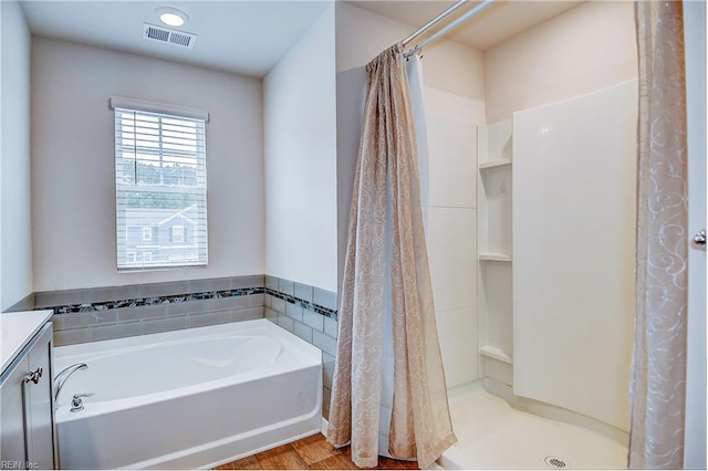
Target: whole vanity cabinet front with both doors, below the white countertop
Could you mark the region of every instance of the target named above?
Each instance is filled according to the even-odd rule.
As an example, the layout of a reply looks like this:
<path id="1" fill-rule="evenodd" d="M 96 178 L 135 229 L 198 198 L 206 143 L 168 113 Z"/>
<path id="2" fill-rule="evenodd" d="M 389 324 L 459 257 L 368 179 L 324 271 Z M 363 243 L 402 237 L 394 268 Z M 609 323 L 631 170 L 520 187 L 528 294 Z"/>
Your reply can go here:
<path id="1" fill-rule="evenodd" d="M 52 324 L 46 323 L 0 376 L 2 469 L 55 469 Z"/>

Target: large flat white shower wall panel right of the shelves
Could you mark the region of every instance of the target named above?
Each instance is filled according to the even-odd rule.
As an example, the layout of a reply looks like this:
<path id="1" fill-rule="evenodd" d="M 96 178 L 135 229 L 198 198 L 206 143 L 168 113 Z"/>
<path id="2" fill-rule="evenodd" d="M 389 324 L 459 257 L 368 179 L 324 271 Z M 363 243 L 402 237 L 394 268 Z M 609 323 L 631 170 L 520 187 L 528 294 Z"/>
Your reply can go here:
<path id="1" fill-rule="evenodd" d="M 628 429 L 637 83 L 514 113 L 514 394 Z"/>

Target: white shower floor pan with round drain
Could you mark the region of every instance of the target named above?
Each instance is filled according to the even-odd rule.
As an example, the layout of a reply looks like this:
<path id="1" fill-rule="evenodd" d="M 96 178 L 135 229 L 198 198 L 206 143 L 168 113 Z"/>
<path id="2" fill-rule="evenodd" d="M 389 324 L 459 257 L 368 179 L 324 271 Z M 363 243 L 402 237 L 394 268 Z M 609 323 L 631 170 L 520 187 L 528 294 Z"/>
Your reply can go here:
<path id="1" fill-rule="evenodd" d="M 626 447 L 512 409 L 481 384 L 454 388 L 449 399 L 458 442 L 439 460 L 446 469 L 626 469 Z"/>

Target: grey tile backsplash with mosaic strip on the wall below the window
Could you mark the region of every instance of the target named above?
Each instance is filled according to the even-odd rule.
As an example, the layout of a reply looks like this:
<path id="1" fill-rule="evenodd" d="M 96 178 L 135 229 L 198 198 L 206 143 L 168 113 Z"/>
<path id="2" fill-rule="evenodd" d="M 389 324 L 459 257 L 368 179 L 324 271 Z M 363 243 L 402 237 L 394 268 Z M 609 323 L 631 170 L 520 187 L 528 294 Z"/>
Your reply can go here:
<path id="1" fill-rule="evenodd" d="M 54 345 L 263 317 L 263 275 L 34 293 L 54 311 Z"/>

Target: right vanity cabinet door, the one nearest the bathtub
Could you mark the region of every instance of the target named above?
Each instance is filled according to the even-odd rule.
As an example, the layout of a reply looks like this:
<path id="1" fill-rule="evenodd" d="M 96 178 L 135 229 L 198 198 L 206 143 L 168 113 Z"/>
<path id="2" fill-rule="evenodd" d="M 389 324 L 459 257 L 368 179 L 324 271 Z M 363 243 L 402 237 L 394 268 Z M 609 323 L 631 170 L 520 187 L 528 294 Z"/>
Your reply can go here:
<path id="1" fill-rule="evenodd" d="M 24 384 L 27 395 L 25 412 L 28 427 L 28 458 L 39 469 L 54 469 L 54 421 L 52 409 L 52 370 L 51 370 L 51 338 L 52 329 L 43 332 L 42 337 L 30 350 L 29 368 L 35 371 L 42 368 L 42 376 L 38 384 Z"/>

